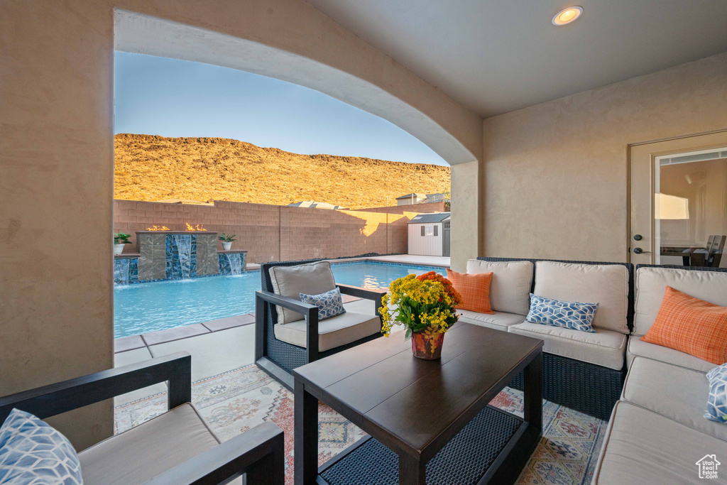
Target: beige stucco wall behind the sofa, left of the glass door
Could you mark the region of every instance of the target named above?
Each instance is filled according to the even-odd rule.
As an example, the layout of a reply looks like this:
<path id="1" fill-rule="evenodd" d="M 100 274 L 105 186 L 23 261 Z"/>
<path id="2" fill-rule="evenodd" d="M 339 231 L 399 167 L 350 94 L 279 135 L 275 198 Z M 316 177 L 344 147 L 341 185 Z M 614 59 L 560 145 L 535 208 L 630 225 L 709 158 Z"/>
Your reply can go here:
<path id="1" fill-rule="evenodd" d="M 486 119 L 486 254 L 626 260 L 628 145 L 725 128 L 727 53 Z"/>

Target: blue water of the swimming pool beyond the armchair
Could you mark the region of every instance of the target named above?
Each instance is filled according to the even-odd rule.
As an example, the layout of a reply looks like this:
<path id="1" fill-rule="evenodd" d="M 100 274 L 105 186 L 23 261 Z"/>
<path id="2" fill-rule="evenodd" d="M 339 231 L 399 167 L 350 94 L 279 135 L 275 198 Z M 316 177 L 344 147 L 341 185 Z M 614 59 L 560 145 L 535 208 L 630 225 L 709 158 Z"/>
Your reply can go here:
<path id="1" fill-rule="evenodd" d="M 444 268 L 388 262 L 341 262 L 331 265 L 337 283 L 385 288 L 396 278 Z M 260 271 L 238 276 L 179 279 L 118 285 L 113 289 L 114 336 L 145 334 L 174 326 L 198 324 L 228 316 L 253 313 Z"/>

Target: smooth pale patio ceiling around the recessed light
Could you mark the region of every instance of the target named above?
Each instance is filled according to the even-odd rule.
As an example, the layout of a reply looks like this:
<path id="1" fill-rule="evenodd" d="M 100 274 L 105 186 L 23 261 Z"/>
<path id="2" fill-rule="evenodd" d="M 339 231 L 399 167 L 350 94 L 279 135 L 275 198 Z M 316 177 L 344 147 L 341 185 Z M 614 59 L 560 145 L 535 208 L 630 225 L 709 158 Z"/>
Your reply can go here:
<path id="1" fill-rule="evenodd" d="M 483 118 L 727 51 L 724 0 L 308 2 Z"/>

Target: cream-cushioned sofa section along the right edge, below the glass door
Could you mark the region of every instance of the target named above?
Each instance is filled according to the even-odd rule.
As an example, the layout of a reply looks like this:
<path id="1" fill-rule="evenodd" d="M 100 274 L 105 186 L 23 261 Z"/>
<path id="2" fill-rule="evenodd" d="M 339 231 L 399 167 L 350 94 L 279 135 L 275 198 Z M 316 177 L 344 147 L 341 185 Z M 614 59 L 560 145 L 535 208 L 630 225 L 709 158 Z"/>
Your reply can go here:
<path id="1" fill-rule="evenodd" d="M 716 455 L 724 462 L 727 457 L 727 424 L 704 418 L 709 394 L 705 374 L 716 365 L 639 340 L 654 323 L 667 285 L 727 306 L 726 269 L 636 268 L 628 374 L 608 423 L 593 484 L 700 482 L 702 459 L 714 460 Z M 718 472 L 722 478 L 724 468 Z"/>

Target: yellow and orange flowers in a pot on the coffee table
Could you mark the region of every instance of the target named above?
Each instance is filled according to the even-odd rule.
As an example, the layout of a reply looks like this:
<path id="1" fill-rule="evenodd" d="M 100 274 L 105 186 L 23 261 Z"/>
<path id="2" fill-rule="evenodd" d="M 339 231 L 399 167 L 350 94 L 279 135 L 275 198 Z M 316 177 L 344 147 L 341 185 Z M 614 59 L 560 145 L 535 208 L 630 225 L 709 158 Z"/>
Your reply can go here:
<path id="1" fill-rule="evenodd" d="M 414 357 L 440 358 L 444 333 L 459 319 L 454 307 L 460 302 L 462 297 L 451 281 L 434 271 L 399 278 L 391 283 L 379 308 L 382 332 L 388 337 L 395 324 L 403 324 Z M 389 305 L 397 308 L 391 310 Z"/>

